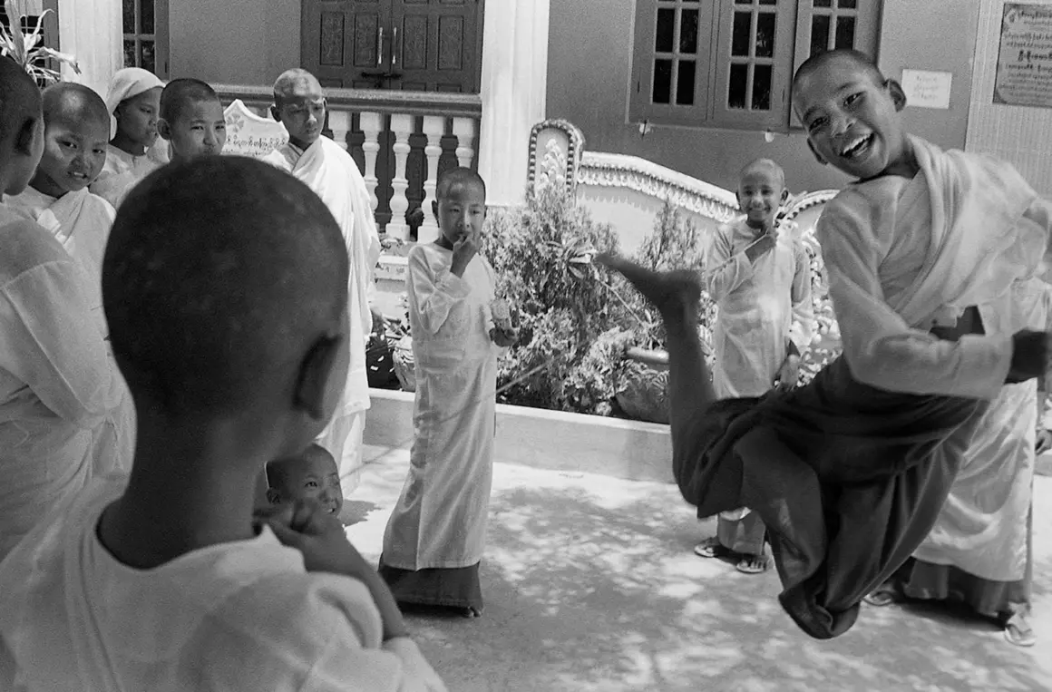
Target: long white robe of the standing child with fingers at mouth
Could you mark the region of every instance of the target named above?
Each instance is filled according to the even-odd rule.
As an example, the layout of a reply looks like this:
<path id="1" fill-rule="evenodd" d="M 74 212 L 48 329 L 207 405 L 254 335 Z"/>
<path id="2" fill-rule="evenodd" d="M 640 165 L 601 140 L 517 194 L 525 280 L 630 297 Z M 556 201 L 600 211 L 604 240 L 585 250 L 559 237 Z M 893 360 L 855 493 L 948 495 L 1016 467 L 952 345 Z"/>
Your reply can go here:
<path id="1" fill-rule="evenodd" d="M 383 563 L 404 570 L 482 559 L 492 486 L 497 358 L 494 276 L 476 256 L 462 278 L 452 251 L 409 251 L 408 293 L 417 396 L 409 474 L 384 531 Z"/>

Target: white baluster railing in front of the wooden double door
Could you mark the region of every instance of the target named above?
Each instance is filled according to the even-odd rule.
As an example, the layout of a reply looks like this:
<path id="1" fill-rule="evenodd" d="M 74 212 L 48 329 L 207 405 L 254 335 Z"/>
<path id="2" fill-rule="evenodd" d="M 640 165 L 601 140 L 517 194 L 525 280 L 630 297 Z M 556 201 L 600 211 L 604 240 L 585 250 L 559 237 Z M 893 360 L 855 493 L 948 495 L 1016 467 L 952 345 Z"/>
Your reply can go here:
<path id="1" fill-rule="evenodd" d="M 269 87 L 221 84 L 215 88 L 224 104 L 230 104 L 226 150 L 260 156 L 267 147 L 280 145 L 284 127 L 270 117 Z M 327 134 L 347 148 L 364 171 L 378 225 L 389 237 L 408 240 L 407 212 L 422 207 L 425 213 L 418 239 L 438 238 L 430 207 L 439 169 L 476 165 L 482 99 L 467 94 L 373 89 L 328 89 L 327 98 Z M 246 120 L 251 122 L 244 133 L 263 134 L 241 131 Z"/>

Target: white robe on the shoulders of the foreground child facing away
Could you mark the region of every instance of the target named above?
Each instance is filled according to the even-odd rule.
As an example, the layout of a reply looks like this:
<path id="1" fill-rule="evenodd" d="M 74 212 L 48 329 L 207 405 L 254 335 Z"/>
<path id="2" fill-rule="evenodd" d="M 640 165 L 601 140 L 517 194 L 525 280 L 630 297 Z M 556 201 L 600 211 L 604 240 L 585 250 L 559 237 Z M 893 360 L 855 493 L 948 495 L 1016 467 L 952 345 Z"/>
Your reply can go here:
<path id="1" fill-rule="evenodd" d="M 160 567 L 99 542 L 124 479 L 93 483 L 0 564 L 0 689 L 440 692 L 408 638 L 382 642 L 360 581 L 308 573 L 269 529 Z"/>

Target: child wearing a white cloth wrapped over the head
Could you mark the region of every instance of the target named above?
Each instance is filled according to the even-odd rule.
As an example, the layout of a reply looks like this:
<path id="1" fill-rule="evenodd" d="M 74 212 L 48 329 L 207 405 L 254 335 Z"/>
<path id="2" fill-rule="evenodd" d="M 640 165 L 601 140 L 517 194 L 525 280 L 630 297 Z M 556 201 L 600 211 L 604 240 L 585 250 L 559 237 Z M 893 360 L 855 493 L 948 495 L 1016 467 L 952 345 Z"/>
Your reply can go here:
<path id="1" fill-rule="evenodd" d="M 140 67 L 117 70 L 106 109 L 113 116 L 106 165 L 92 184 L 92 191 L 115 208 L 136 183 L 167 163 L 157 145 L 157 116 L 161 89 L 157 75 Z"/>

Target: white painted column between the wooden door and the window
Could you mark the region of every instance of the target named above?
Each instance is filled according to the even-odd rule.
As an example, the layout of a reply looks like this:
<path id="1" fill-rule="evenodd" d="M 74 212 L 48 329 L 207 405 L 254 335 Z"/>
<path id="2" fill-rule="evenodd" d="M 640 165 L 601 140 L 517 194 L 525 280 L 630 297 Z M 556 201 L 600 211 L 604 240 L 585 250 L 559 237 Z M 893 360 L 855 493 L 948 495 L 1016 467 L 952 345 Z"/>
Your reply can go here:
<path id="1" fill-rule="evenodd" d="M 487 201 L 525 200 L 529 133 L 545 118 L 549 0 L 486 0 L 479 172 Z"/>

